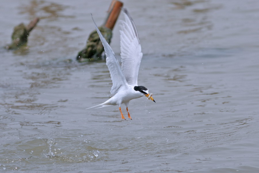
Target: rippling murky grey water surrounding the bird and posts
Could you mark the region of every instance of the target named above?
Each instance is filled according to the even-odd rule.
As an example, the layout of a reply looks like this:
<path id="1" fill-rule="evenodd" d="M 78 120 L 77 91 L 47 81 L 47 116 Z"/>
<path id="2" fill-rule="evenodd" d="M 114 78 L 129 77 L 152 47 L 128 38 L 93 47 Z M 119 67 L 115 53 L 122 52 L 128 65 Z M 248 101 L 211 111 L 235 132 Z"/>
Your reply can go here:
<path id="1" fill-rule="evenodd" d="M 1 47 L 41 17 L 28 50 L 0 50 L 0 172 L 258 172 L 259 2 L 124 1 L 144 54 L 138 83 L 156 100 L 132 100 L 132 121 L 117 106 L 85 110 L 112 83 L 105 62 L 75 61 L 90 13 L 100 25 L 109 4 L 0 6 Z"/>

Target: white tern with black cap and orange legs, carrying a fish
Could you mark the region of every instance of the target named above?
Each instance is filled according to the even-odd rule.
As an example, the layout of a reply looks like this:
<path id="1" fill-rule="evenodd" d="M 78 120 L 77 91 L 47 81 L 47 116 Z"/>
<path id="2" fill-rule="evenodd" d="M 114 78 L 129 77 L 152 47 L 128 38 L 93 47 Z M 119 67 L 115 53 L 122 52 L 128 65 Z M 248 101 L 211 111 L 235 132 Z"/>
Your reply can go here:
<path id="1" fill-rule="evenodd" d="M 98 106 L 100 106 L 99 108 L 102 108 L 111 105 L 119 105 L 121 118 L 125 119 L 121 111 L 121 104 L 125 104 L 128 118 L 132 119 L 128 110 L 130 100 L 137 99 L 142 96 L 146 96 L 148 99 L 151 99 L 154 102 L 155 100 L 152 97 L 152 93 L 148 93 L 148 89 L 146 87 L 138 86 L 138 71 L 143 54 L 141 52 L 138 32 L 134 21 L 125 8 L 123 9 L 123 14 L 125 21 L 121 21 L 121 30 L 119 31 L 122 63 L 121 66 L 118 59 L 115 57 L 115 54 L 110 45 L 107 43 L 102 33 L 98 29 L 92 16 L 96 31 L 104 47 L 106 65 L 108 66 L 113 82 L 113 86 L 111 87 L 111 94 L 115 95 L 104 103 L 93 106 L 91 108 Z"/>

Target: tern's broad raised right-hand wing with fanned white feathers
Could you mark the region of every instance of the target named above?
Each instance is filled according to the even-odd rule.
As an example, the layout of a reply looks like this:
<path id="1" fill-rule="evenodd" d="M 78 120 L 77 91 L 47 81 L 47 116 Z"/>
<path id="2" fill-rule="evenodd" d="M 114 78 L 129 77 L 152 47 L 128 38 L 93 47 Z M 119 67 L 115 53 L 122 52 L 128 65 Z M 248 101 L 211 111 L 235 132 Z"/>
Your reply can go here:
<path id="1" fill-rule="evenodd" d="M 122 72 L 128 84 L 138 86 L 138 70 L 142 59 L 136 26 L 124 8 L 125 21 L 121 21 L 120 43 Z"/>

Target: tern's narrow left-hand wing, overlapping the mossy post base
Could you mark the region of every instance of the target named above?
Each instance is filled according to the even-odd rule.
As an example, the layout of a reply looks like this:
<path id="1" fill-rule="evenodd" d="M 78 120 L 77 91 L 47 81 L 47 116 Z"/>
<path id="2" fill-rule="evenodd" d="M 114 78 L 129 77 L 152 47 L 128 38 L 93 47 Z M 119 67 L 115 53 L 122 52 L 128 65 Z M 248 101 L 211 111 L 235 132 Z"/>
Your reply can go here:
<path id="1" fill-rule="evenodd" d="M 93 16 L 92 16 L 92 19 L 93 19 Z M 93 21 L 94 21 L 94 19 L 93 19 Z M 110 45 L 107 43 L 105 38 L 102 36 L 102 33 L 98 29 L 95 22 L 94 22 L 94 25 L 95 25 L 96 31 L 102 41 L 102 45 L 104 47 L 104 51 L 106 54 L 106 65 L 108 66 L 108 69 L 111 74 L 111 79 L 113 81 L 113 86 L 111 87 L 111 94 L 115 94 L 118 92 L 118 90 L 121 86 L 126 86 L 128 84 L 127 84 L 127 81 L 125 79 L 123 72 L 121 71 L 119 61 L 115 57 L 113 50 L 111 49 Z"/>

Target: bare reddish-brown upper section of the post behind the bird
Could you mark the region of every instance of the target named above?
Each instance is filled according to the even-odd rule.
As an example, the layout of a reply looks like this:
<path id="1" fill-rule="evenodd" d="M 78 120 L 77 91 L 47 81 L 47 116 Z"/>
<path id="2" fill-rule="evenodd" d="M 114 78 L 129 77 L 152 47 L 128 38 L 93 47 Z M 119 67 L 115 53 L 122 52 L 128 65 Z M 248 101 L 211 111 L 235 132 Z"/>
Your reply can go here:
<path id="1" fill-rule="evenodd" d="M 113 29 L 117 18 L 119 17 L 119 14 L 121 12 L 121 7 L 123 6 L 123 3 L 121 1 L 113 0 L 111 2 L 111 5 L 108 10 L 108 16 L 104 22 L 104 26 L 106 28 Z"/>

